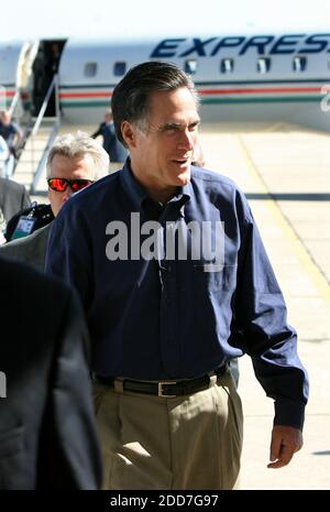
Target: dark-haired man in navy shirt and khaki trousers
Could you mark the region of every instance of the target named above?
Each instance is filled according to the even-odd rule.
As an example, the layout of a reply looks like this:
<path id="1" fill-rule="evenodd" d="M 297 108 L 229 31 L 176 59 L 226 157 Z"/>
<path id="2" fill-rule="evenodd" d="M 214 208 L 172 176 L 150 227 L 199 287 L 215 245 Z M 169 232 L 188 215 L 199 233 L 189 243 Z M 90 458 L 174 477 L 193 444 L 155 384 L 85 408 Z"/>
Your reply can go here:
<path id="1" fill-rule="evenodd" d="M 243 194 L 191 165 L 190 77 L 141 64 L 111 106 L 130 159 L 63 207 L 46 261 L 86 308 L 103 486 L 233 489 L 243 417 L 228 362 L 248 353 L 275 401 L 268 467 L 283 467 L 308 394 L 296 333 Z"/>

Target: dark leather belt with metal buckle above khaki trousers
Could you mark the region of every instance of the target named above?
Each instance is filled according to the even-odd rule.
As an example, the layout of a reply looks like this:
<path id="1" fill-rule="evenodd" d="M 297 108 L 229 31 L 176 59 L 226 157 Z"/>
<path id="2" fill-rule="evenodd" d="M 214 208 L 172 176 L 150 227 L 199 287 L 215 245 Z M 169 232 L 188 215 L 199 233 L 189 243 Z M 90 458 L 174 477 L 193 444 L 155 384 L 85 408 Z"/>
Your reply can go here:
<path id="1" fill-rule="evenodd" d="M 116 379 L 110 377 L 102 377 L 92 373 L 92 379 L 103 385 L 116 388 L 116 382 L 120 382 L 122 391 L 132 391 L 133 393 L 154 394 L 156 396 L 174 397 L 186 394 L 194 394 L 198 391 L 207 390 L 212 385 L 211 375 L 216 375 L 217 379 L 224 375 L 227 364 L 213 370 L 212 372 L 205 375 L 198 377 L 197 379 L 187 379 L 180 381 L 158 381 L 158 382 L 146 382 L 135 381 L 132 379 Z"/>

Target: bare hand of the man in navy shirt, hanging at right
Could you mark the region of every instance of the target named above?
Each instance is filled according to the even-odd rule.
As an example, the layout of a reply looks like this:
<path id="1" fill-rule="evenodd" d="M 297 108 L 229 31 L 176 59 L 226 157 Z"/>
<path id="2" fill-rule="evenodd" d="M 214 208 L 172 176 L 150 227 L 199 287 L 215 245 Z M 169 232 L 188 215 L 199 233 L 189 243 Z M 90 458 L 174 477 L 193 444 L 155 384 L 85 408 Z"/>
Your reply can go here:
<path id="1" fill-rule="evenodd" d="M 276 425 L 272 432 L 271 462 L 267 468 L 287 466 L 294 454 L 302 446 L 302 434 L 299 428 Z"/>

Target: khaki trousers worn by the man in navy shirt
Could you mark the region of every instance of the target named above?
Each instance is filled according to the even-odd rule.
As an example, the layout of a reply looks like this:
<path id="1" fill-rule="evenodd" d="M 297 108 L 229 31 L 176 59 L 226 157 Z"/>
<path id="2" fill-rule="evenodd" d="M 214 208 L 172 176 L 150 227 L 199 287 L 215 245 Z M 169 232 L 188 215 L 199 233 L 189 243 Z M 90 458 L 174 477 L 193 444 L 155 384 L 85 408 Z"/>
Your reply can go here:
<path id="1" fill-rule="evenodd" d="M 206 391 L 161 397 L 94 383 L 103 489 L 237 488 L 241 400 L 230 373 Z"/>

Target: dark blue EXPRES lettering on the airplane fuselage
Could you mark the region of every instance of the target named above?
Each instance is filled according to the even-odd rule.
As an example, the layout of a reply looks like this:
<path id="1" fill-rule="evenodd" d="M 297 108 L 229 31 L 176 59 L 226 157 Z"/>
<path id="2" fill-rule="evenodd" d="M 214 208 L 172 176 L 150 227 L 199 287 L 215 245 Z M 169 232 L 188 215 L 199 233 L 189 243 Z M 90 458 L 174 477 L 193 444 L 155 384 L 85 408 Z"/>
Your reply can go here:
<path id="1" fill-rule="evenodd" d="M 151 58 L 212 57 L 237 48 L 239 55 L 254 51 L 257 55 L 287 55 L 294 53 L 316 54 L 329 48 L 330 33 L 275 35 L 231 35 L 226 37 L 178 37 L 160 42 L 151 53 Z"/>

